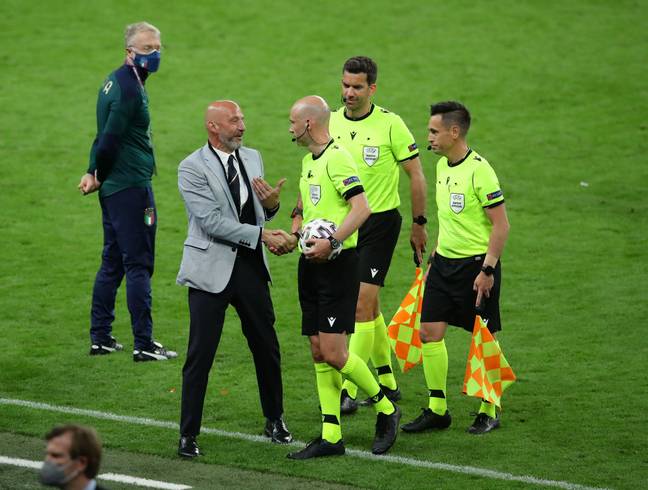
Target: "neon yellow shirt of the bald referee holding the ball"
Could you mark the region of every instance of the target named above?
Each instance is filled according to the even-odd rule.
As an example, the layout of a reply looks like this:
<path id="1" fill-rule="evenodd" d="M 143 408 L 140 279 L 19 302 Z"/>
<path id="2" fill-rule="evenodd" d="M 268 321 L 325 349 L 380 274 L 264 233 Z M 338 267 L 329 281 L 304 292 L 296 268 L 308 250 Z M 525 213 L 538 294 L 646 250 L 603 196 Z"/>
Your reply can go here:
<path id="1" fill-rule="evenodd" d="M 331 140 L 319 155 L 304 156 L 299 192 L 304 205 L 304 224 L 323 218 L 339 227 L 351 210 L 348 200 L 364 189 L 349 152 Z M 342 248 L 354 248 L 357 243 L 356 230 L 344 240 Z"/>

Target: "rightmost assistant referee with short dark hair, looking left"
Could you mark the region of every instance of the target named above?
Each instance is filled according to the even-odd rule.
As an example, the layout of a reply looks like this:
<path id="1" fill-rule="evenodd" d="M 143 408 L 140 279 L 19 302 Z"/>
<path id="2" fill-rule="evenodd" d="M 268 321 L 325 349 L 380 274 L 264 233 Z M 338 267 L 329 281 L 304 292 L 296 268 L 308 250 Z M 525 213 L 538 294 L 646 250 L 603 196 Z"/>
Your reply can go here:
<path id="1" fill-rule="evenodd" d="M 420 330 L 429 405 L 402 426 L 405 432 L 445 429 L 451 424 L 444 341 L 448 324 L 471 332 L 479 309 L 492 333 L 501 329 L 499 259 L 509 233 L 497 176 L 486 159 L 466 143 L 468 109 L 448 101 L 434 104 L 430 113 L 428 141 L 441 158 L 436 172 L 439 238 L 425 283 Z M 495 405 L 482 401 L 468 432 L 483 434 L 499 424 Z"/>

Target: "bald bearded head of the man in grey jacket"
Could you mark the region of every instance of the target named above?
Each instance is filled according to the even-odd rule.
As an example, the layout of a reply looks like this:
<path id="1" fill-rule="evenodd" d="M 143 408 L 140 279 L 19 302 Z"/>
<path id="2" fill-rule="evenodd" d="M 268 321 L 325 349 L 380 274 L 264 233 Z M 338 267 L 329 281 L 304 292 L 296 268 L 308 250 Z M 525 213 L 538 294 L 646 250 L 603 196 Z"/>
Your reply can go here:
<path id="1" fill-rule="evenodd" d="M 239 105 L 231 100 L 217 100 L 207 106 L 205 127 L 215 148 L 232 153 L 241 147 L 245 123 Z"/>

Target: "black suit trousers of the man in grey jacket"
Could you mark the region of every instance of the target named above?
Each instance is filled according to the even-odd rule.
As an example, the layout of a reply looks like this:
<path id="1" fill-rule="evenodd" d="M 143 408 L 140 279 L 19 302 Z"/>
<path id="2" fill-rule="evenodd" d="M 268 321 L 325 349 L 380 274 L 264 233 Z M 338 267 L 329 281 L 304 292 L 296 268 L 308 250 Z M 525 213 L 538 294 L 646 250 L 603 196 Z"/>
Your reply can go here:
<path id="1" fill-rule="evenodd" d="M 189 346 L 182 369 L 180 433 L 200 433 L 209 371 L 223 331 L 225 310 L 234 306 L 254 359 L 261 407 L 266 418 L 283 414 L 281 356 L 274 329 L 268 277 L 259 256 L 239 255 L 232 277 L 220 293 L 189 288 Z"/>

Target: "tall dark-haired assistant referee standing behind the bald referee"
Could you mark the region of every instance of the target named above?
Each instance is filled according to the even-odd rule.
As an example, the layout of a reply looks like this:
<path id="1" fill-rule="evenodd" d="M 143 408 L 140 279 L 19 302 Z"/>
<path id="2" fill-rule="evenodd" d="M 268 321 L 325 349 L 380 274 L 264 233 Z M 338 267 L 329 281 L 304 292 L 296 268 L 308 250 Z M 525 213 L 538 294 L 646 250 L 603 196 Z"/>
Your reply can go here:
<path id="1" fill-rule="evenodd" d="M 378 67 L 371 58 L 355 56 L 344 63 L 341 87 L 344 106 L 331 115 L 330 131 L 335 142 L 348 150 L 358 165 L 371 207 L 371 216 L 359 230 L 360 292 L 349 350 L 365 362 L 371 358 L 383 391 L 392 401 L 397 401 L 401 394 L 392 371 L 379 294 L 401 229 L 400 169 L 410 179 L 414 216 L 410 243 L 419 262 L 427 242 L 426 184 L 412 133 L 400 116 L 372 103 L 377 77 Z M 358 407 L 358 388 L 348 379 L 342 388 L 342 413 L 353 413 Z"/>

